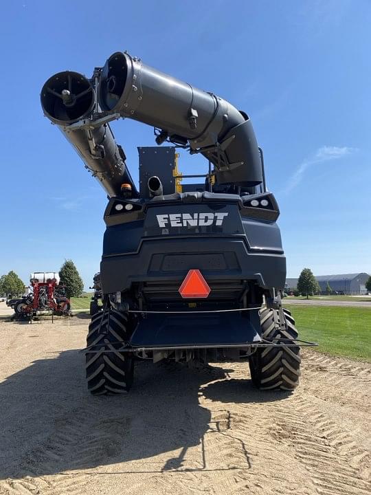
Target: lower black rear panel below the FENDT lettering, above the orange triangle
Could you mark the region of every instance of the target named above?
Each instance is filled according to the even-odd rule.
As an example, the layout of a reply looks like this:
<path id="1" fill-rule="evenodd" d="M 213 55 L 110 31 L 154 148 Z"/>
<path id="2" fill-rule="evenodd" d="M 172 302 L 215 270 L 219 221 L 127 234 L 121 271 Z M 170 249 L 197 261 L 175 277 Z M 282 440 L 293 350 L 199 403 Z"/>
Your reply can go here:
<path id="1" fill-rule="evenodd" d="M 166 251 L 166 252 L 164 252 Z M 185 261 L 178 270 L 162 270 L 168 263 L 168 256 L 186 255 Z M 210 256 L 210 262 L 205 266 L 205 256 Z M 218 260 L 223 256 L 221 267 Z M 221 281 L 231 278 L 227 269 L 226 257 L 237 259 L 233 275 L 236 279 L 255 280 L 260 287 L 269 289 L 284 288 L 286 277 L 286 259 L 283 254 L 269 252 L 251 252 L 243 237 L 240 238 L 199 238 L 199 239 L 148 239 L 141 244 L 135 254 L 117 254 L 103 256 L 100 263 L 102 288 L 104 294 L 122 292 L 131 287 L 133 282 L 143 281 L 175 281 L 179 286 L 188 270 L 199 269 L 207 272 L 207 283 L 213 280 Z"/>

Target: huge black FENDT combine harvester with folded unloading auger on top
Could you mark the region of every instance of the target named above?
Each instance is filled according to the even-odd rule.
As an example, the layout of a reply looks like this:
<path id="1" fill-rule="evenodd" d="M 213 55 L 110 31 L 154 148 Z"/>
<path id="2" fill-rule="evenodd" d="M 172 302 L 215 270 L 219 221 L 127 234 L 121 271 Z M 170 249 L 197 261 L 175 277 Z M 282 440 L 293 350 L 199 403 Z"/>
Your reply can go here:
<path id="1" fill-rule="evenodd" d="M 55 74 L 41 104 L 109 197 L 89 391 L 128 391 L 137 359 L 249 360 L 256 386 L 295 388 L 300 349 L 281 302 L 278 204 L 248 115 L 126 52 L 91 79 Z M 138 148 L 139 191 L 109 126 L 118 118 L 153 126 L 157 145 L 172 144 Z M 205 174 L 181 176 L 177 147 L 201 153 Z M 184 177 L 201 181 L 182 186 Z"/>

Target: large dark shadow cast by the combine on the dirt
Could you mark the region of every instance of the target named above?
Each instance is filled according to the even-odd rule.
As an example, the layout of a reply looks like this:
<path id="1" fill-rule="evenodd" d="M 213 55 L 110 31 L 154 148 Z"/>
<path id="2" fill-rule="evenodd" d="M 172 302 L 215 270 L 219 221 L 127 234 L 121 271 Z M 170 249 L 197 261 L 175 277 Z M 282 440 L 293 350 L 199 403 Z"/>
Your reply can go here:
<path id="1" fill-rule="evenodd" d="M 0 384 L 0 478 L 82 470 L 166 452 L 160 467 L 151 461 L 153 472 L 181 469 L 195 445 L 201 445 L 201 460 L 194 470 L 202 470 L 203 437 L 214 419 L 199 404 L 200 388 L 205 397 L 221 402 L 286 397 L 262 394 L 248 379 L 228 379 L 228 367 L 139 362 L 130 394 L 93 397 L 86 390 L 82 353 L 51 353 Z M 246 463 L 248 469 L 248 456 Z"/>

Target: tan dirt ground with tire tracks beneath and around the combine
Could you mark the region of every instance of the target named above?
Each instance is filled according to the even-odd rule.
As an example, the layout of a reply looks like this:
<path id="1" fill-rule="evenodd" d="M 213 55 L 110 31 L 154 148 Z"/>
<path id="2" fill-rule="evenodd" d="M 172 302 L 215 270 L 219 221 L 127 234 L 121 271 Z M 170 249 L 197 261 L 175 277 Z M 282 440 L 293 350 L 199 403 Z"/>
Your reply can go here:
<path id="1" fill-rule="evenodd" d="M 88 322 L 0 320 L 1 495 L 370 494 L 370 364 L 304 350 L 290 394 L 247 363 L 139 363 L 91 397 Z"/>

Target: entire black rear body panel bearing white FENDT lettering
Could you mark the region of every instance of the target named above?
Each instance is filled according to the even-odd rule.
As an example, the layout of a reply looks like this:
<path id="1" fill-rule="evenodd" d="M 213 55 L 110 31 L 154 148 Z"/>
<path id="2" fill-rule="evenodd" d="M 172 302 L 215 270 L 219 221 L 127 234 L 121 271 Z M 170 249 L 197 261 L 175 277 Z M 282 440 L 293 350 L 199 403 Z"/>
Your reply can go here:
<path id="1" fill-rule="evenodd" d="M 233 279 L 283 289 L 286 260 L 278 225 L 241 217 L 240 198 L 225 196 L 229 203 L 155 201 L 147 204 L 144 220 L 108 225 L 103 292 L 143 282 L 180 285 L 191 269 L 201 270 L 210 284 Z"/>

